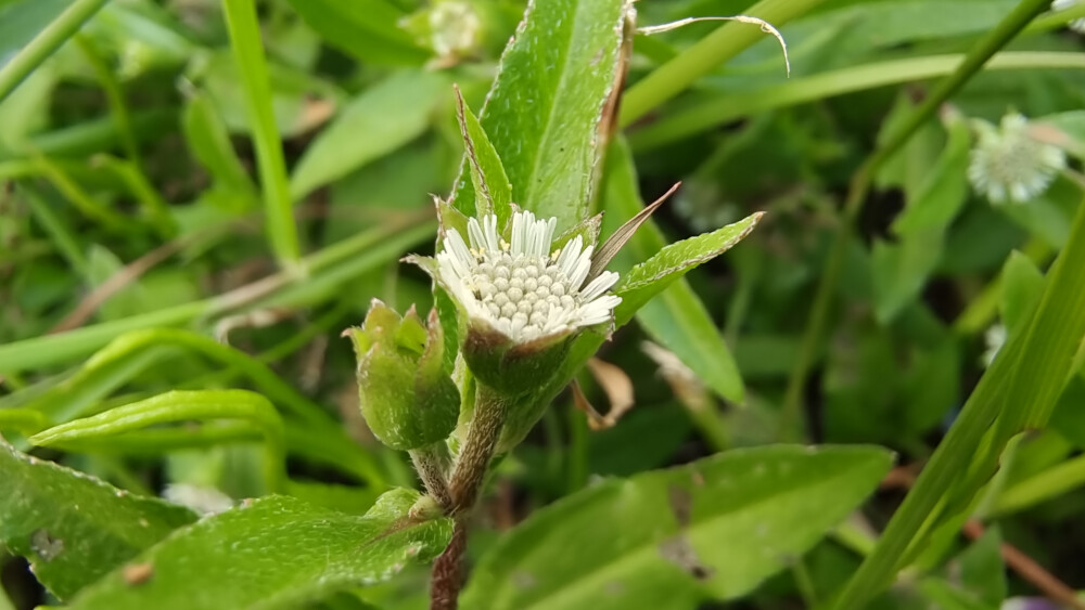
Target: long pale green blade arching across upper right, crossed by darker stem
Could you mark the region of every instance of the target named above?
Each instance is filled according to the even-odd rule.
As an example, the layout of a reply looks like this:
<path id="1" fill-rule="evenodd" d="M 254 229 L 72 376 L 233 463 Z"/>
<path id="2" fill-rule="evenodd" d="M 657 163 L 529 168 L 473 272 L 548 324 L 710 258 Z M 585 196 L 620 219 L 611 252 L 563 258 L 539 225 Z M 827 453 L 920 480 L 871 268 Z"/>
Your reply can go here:
<path id="1" fill-rule="evenodd" d="M 886 85 L 946 76 L 958 69 L 965 59 L 966 55 L 953 54 L 892 60 L 816 74 L 754 91 L 720 93 L 630 130 L 629 145 L 638 153 L 650 151 L 755 112 L 803 104 Z M 1085 56 L 1081 53 L 1007 51 L 991 57 L 984 68 L 1085 69 Z"/>

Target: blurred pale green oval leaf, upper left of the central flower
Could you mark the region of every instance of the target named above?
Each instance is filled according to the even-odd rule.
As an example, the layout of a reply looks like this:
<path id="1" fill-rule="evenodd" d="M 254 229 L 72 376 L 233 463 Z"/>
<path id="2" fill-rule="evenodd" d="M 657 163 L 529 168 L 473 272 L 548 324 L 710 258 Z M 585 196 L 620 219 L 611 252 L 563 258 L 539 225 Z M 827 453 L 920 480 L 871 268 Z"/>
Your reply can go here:
<path id="1" fill-rule="evenodd" d="M 290 180 L 293 198 L 421 135 L 447 85 L 439 73 L 399 72 L 355 98 L 297 163 Z"/>

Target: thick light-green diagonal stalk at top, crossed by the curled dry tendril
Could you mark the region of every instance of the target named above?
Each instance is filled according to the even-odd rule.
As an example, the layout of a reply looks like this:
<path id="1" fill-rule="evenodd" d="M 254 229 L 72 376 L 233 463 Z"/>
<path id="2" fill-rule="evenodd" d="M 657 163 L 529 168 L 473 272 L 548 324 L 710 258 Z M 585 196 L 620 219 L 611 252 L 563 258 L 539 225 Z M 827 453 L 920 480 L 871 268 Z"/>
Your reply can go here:
<path id="1" fill-rule="evenodd" d="M 746 12 L 780 27 L 825 0 L 762 0 Z M 766 35 L 761 28 L 729 22 L 677 57 L 655 68 L 622 96 L 618 126 L 627 127 L 671 100 L 716 66 L 731 60 Z M 782 63 L 783 60 L 781 59 Z M 782 67 L 782 66 L 781 66 Z"/>

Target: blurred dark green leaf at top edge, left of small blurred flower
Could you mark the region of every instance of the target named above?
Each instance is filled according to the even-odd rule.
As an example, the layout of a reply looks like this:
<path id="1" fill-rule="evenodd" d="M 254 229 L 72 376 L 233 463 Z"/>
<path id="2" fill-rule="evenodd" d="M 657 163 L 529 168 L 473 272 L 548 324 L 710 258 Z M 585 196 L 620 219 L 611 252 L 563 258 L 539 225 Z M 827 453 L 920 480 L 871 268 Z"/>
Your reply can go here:
<path id="1" fill-rule="evenodd" d="M 367 63 L 420 65 L 430 53 L 399 28 L 406 13 L 386 0 L 289 0 L 332 47 Z"/>

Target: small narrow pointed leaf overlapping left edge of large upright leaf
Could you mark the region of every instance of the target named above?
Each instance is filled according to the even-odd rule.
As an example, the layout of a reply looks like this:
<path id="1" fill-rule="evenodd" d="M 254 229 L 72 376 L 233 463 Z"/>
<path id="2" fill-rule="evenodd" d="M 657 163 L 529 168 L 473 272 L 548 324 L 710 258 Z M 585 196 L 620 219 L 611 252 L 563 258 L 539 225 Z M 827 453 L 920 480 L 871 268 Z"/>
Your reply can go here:
<path id="1" fill-rule="evenodd" d="M 478 124 L 478 118 L 463 103 L 459 89 L 456 90 L 456 101 L 460 134 L 463 135 L 467 164 L 471 170 L 471 185 L 474 187 L 475 196 L 478 197 L 475 200 L 475 209 L 480 215 L 497 215 L 498 231 L 502 231 L 512 217 L 512 184 L 509 184 L 501 157 Z"/>

